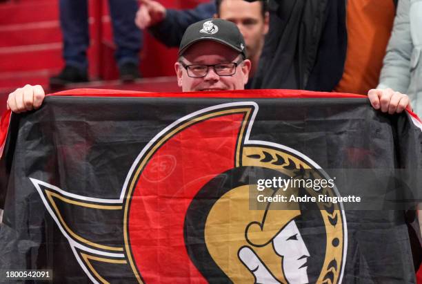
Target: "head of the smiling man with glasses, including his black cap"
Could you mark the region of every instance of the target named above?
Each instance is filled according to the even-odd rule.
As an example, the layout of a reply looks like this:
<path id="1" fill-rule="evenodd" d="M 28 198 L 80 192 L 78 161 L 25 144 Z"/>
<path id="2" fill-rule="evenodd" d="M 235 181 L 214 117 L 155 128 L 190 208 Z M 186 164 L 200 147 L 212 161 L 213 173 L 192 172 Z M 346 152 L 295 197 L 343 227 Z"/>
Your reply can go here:
<path id="1" fill-rule="evenodd" d="M 234 23 L 205 19 L 186 30 L 174 64 L 183 92 L 241 90 L 251 63 L 245 41 Z"/>

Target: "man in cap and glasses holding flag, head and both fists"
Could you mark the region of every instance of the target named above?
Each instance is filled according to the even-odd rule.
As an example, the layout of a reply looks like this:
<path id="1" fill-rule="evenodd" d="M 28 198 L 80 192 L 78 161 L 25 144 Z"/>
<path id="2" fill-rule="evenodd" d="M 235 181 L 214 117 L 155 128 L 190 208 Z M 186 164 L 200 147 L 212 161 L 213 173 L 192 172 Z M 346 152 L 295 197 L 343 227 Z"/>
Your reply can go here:
<path id="1" fill-rule="evenodd" d="M 206 19 L 185 31 L 174 64 L 183 92 L 242 90 L 248 82 L 251 62 L 245 59 L 245 41 L 234 23 Z M 8 97 L 15 113 L 39 108 L 45 97 L 41 86 L 26 85 Z M 407 95 L 388 90 L 368 94 L 372 106 L 388 113 L 401 113 L 410 106 Z"/>

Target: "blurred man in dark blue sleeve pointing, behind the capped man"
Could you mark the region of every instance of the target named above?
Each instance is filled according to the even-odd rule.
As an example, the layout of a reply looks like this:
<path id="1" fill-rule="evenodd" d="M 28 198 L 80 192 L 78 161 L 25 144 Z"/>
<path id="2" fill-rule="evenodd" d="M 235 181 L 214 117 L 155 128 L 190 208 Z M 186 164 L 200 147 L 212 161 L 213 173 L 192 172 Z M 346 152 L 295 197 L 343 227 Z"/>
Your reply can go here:
<path id="1" fill-rule="evenodd" d="M 135 23 L 141 29 L 148 28 L 166 46 L 173 47 L 179 46 L 183 32 L 191 23 L 210 17 L 219 17 L 237 25 L 245 39 L 248 59 L 252 61 L 252 78 L 268 32 L 266 1 L 249 3 L 244 0 L 217 0 L 190 10 L 172 10 L 166 9 L 157 1 L 142 0 Z M 248 86 L 250 84 L 251 81 Z"/>

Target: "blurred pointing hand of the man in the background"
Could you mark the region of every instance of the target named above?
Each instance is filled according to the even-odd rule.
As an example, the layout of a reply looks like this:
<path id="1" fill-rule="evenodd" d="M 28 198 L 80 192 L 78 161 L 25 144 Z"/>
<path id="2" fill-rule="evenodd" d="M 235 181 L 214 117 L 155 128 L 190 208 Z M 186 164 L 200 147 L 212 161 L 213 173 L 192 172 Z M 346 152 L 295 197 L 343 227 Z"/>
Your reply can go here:
<path id="1" fill-rule="evenodd" d="M 139 0 L 141 6 L 138 9 L 135 23 L 138 28 L 145 29 L 163 21 L 165 18 L 165 7 L 153 0 Z"/>

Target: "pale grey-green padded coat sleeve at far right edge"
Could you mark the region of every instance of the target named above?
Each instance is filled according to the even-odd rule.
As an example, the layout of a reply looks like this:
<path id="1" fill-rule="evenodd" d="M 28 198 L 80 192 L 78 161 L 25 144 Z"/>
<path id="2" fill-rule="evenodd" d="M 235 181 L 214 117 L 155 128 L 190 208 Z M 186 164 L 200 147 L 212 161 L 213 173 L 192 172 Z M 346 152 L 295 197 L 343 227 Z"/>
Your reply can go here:
<path id="1" fill-rule="evenodd" d="M 377 88 L 408 94 L 422 115 L 422 1 L 399 1 Z"/>

